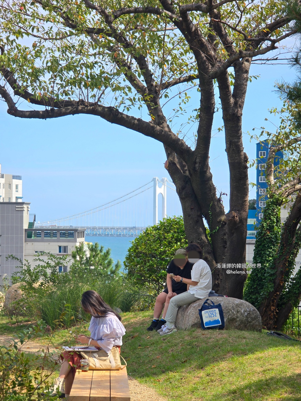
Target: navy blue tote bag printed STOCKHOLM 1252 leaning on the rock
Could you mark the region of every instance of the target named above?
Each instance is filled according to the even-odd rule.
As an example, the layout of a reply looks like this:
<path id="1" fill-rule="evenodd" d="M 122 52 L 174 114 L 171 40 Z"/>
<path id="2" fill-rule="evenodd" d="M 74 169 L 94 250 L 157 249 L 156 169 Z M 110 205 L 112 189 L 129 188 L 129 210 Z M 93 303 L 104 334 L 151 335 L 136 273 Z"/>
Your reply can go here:
<path id="1" fill-rule="evenodd" d="M 211 304 L 209 304 L 211 302 Z M 225 327 L 224 312 L 221 304 L 215 304 L 207 298 L 199 309 L 199 317 L 201 318 L 201 326 L 203 330 L 210 328 L 223 329 Z"/>

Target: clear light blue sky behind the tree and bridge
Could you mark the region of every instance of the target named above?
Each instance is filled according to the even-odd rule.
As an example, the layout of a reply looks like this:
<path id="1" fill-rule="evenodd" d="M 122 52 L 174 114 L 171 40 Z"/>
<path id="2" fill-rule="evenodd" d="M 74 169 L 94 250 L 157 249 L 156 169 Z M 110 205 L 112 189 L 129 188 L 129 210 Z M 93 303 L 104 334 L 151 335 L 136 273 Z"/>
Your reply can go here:
<path id="1" fill-rule="evenodd" d="M 277 124 L 278 119 L 268 113 L 269 108 L 282 105 L 275 93 L 275 81 L 293 81 L 295 71 L 288 65 L 252 65 L 250 75 L 260 77 L 248 85 L 243 111 L 244 132 L 251 132 L 254 127 L 267 127 L 265 117 Z M 195 95 L 191 102 L 191 107 L 199 106 Z M 163 145 L 152 138 L 96 116 L 19 119 L 8 115 L 6 109 L 5 103 L 0 102 L 2 173 L 22 175 L 23 201 L 31 202 L 31 213 L 36 214 L 37 221 L 92 209 L 150 182 L 155 176 L 171 180 L 164 168 Z M 222 124 L 221 113 L 216 113 L 214 129 Z M 244 149 L 250 159 L 255 158 L 255 144 L 244 134 Z M 222 132 L 212 138 L 210 168 L 218 192 L 229 194 Z M 254 168 L 249 170 L 249 180 L 256 180 Z M 252 188 L 249 197 L 255 197 Z M 224 197 L 224 205 L 227 211 L 228 196 Z M 167 214 L 181 214 L 177 194 L 171 189 L 167 193 Z M 115 211 L 106 209 L 98 215 L 90 215 L 89 219 L 77 221 L 77 224 L 152 224 L 152 189 L 115 207 Z"/>

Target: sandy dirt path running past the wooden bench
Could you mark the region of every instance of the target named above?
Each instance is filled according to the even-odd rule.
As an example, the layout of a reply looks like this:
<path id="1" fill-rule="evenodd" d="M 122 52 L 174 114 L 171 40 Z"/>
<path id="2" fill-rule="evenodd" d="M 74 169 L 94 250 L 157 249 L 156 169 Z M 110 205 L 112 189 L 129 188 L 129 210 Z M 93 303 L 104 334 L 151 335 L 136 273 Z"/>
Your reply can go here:
<path id="1" fill-rule="evenodd" d="M 10 336 L 0 336 L 0 344 L 9 344 L 11 341 L 12 337 Z M 45 345 L 34 341 L 28 341 L 22 347 L 24 352 L 34 354 L 42 349 L 45 349 Z M 49 347 L 49 352 L 51 351 L 55 351 L 53 346 Z M 128 376 L 128 384 L 130 386 L 131 401 L 167 401 L 165 398 L 158 395 L 154 389 L 142 385 L 133 377 Z"/>

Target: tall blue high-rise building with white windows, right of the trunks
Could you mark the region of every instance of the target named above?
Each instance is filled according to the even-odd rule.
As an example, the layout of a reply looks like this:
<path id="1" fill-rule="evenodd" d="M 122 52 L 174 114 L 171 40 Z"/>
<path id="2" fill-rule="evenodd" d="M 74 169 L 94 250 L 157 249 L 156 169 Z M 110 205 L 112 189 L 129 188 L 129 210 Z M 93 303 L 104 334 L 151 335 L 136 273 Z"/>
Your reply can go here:
<path id="1" fill-rule="evenodd" d="M 268 142 L 262 141 L 256 144 L 256 210 L 249 210 L 247 224 L 247 239 L 254 239 L 256 228 L 262 219 L 263 209 L 266 205 L 266 177 L 265 169 L 268 160 Z M 277 152 L 274 159 L 274 166 L 277 167 L 283 160 L 283 153 Z"/>

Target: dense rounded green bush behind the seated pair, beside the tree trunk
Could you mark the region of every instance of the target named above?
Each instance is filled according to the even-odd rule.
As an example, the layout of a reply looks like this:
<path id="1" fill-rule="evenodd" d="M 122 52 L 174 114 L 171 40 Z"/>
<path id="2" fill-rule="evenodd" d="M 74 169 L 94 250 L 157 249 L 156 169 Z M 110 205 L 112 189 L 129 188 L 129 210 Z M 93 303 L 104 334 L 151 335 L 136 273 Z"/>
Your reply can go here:
<path id="1" fill-rule="evenodd" d="M 132 241 L 124 261 L 128 279 L 140 286 L 144 294 L 157 295 L 164 288 L 166 269 L 175 251 L 187 247 L 183 218 L 167 217 L 147 227 Z"/>

